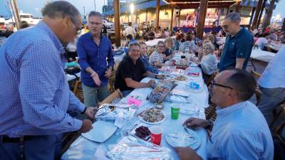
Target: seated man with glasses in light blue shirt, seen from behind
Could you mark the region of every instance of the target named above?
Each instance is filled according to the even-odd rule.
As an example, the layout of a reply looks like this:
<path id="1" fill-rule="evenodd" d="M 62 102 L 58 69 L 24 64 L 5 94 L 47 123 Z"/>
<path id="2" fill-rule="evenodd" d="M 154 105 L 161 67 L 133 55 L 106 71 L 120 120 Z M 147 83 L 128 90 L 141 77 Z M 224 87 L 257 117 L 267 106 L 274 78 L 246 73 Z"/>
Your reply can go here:
<path id="1" fill-rule="evenodd" d="M 266 120 L 247 101 L 255 86 L 252 75 L 240 69 L 225 70 L 214 78 L 211 101 L 219 107 L 207 142 L 207 159 L 273 159 L 274 145 Z M 190 117 L 183 125 L 211 128 L 212 123 Z M 175 149 L 181 160 L 201 159 L 189 146 Z"/>

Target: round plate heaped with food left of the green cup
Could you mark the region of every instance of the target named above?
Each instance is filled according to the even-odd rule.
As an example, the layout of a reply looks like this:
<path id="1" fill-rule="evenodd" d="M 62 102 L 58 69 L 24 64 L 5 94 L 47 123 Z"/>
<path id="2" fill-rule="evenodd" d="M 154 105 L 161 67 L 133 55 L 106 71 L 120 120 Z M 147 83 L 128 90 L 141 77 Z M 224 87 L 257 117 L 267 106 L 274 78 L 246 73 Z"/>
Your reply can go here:
<path id="1" fill-rule="evenodd" d="M 165 121 L 166 115 L 161 110 L 149 108 L 138 114 L 138 118 L 146 124 L 160 124 Z"/>

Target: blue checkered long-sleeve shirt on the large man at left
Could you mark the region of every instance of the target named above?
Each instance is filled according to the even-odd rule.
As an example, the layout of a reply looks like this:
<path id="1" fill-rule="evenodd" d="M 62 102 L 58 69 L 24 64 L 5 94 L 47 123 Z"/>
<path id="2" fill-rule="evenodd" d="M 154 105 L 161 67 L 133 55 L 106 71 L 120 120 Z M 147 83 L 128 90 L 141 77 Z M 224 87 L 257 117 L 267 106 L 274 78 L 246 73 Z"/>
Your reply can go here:
<path id="1" fill-rule="evenodd" d="M 81 128 L 67 110 L 84 105 L 69 90 L 64 48 L 46 23 L 12 34 L 0 48 L 0 135 L 61 134 Z"/>

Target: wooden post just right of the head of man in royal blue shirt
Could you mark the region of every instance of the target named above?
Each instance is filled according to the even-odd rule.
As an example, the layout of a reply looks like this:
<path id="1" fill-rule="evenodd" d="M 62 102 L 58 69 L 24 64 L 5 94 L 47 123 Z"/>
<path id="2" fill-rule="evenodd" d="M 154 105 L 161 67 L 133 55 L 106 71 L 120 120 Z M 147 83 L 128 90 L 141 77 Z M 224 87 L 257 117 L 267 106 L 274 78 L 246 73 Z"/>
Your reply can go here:
<path id="1" fill-rule="evenodd" d="M 120 47 L 120 0 L 114 0 L 115 46 Z"/>

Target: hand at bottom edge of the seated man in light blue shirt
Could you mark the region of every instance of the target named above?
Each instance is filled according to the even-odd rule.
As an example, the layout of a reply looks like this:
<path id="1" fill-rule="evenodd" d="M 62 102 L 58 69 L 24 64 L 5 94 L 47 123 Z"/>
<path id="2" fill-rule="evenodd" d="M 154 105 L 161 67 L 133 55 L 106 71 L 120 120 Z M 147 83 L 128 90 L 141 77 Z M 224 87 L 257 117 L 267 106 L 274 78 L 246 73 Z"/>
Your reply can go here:
<path id="1" fill-rule="evenodd" d="M 180 160 L 202 160 L 202 158 L 194 151 L 194 149 L 190 148 L 190 146 L 186 147 L 175 147 L 175 151 L 180 158 Z"/>

